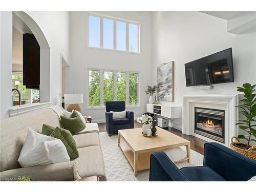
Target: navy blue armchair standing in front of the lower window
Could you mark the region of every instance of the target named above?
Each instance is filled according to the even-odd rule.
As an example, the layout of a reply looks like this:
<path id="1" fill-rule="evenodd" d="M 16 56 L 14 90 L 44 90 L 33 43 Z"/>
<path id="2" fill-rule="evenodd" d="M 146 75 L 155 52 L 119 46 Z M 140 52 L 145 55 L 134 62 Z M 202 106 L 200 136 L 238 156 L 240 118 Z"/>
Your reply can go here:
<path id="1" fill-rule="evenodd" d="M 124 110 L 124 101 L 106 101 L 106 132 L 108 132 L 109 136 L 117 134 L 118 130 L 134 128 L 134 117 L 132 111 L 126 111 L 126 118 L 123 119 L 113 119 L 113 113 L 110 113 L 110 111 L 120 112 Z"/>

